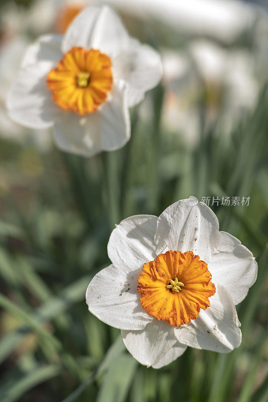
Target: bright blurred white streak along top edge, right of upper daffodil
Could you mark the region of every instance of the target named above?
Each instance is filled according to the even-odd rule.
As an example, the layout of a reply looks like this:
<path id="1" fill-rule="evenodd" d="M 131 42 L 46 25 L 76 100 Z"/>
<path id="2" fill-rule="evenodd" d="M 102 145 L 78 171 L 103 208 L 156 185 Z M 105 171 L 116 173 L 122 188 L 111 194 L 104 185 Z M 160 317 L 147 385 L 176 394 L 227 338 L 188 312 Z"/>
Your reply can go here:
<path id="1" fill-rule="evenodd" d="M 258 9 L 235 0 L 107 0 L 120 12 L 155 18 L 170 28 L 230 43 L 253 27 Z M 239 16 L 239 18 L 237 18 Z"/>

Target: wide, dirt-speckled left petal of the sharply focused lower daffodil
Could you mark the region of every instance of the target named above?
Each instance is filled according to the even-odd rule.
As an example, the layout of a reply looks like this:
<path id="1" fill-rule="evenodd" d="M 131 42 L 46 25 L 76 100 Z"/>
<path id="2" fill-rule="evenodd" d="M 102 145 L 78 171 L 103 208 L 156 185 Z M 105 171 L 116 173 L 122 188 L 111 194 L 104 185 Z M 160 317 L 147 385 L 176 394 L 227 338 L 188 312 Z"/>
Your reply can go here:
<path id="1" fill-rule="evenodd" d="M 143 309 L 137 290 L 138 274 L 110 265 L 98 272 L 88 285 L 88 310 L 99 320 L 124 330 L 140 330 L 153 321 Z"/>

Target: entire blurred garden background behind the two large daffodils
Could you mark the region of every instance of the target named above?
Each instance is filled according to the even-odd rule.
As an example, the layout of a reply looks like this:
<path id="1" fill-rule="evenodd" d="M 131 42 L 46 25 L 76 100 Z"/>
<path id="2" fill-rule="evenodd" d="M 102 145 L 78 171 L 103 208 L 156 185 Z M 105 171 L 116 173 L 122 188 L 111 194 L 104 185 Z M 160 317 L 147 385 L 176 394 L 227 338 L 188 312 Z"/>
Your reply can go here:
<path id="1" fill-rule="evenodd" d="M 108 0 L 161 53 L 164 75 L 131 111 L 129 143 L 86 159 L 59 151 L 50 131 L 13 123 L 5 99 L 26 47 L 63 34 L 93 3 L 1 3 L 0 400 L 267 402 L 267 4 Z M 147 369 L 88 313 L 85 290 L 109 265 L 115 223 L 190 195 L 258 261 L 237 306 L 242 344 L 222 355 L 188 348 Z"/>

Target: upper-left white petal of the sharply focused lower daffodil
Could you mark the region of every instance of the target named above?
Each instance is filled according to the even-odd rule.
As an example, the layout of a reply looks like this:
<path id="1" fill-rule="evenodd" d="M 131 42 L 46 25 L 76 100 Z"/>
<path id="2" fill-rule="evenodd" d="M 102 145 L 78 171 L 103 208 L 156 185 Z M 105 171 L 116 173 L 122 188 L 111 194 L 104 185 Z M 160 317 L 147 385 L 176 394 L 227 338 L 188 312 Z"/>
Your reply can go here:
<path id="1" fill-rule="evenodd" d="M 137 215 L 116 225 L 108 242 L 108 256 L 113 265 L 127 272 L 139 272 L 145 262 L 156 258 L 157 219 L 154 215 Z"/>

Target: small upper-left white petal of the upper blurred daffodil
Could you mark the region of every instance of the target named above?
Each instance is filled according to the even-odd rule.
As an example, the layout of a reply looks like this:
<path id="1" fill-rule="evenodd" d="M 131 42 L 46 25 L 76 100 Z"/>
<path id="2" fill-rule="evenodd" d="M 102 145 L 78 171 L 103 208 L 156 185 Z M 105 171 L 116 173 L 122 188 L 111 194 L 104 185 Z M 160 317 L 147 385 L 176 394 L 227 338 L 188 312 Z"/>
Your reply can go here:
<path id="1" fill-rule="evenodd" d="M 50 61 L 55 67 L 63 56 L 61 42 L 62 36 L 59 35 L 41 36 L 33 45 L 28 46 L 22 61 L 22 67 L 39 61 Z"/>

